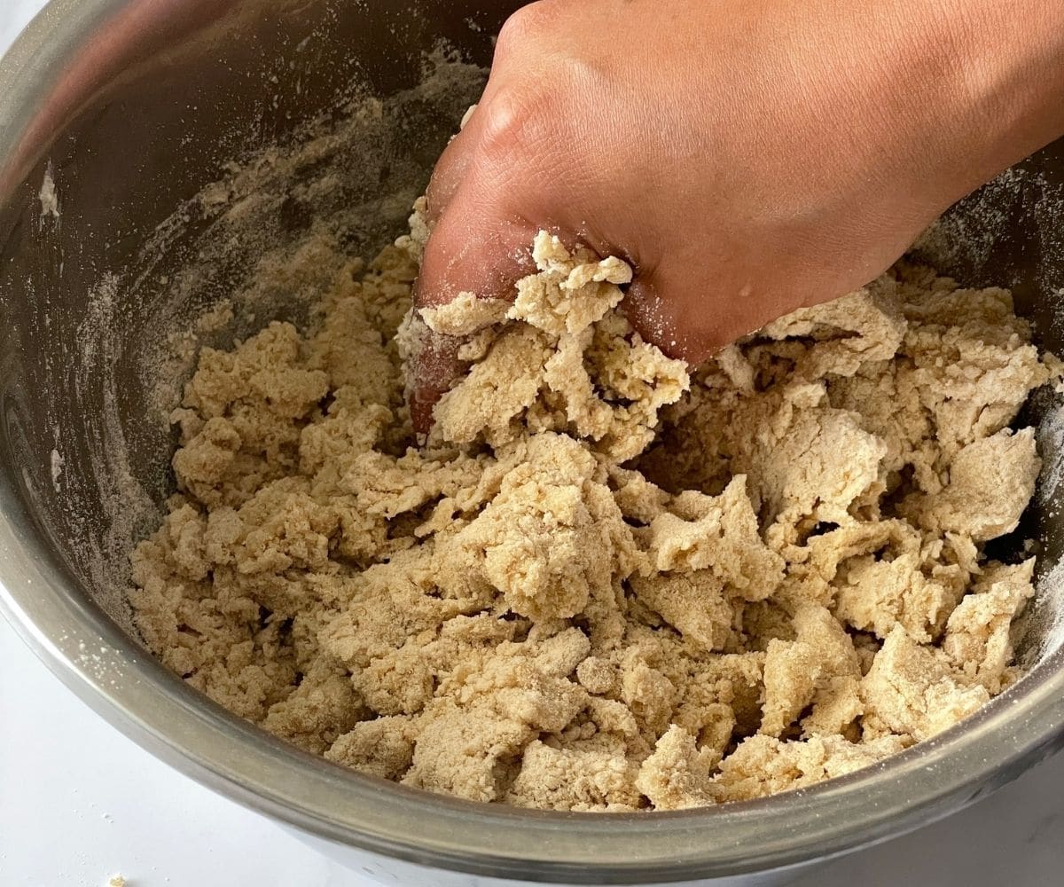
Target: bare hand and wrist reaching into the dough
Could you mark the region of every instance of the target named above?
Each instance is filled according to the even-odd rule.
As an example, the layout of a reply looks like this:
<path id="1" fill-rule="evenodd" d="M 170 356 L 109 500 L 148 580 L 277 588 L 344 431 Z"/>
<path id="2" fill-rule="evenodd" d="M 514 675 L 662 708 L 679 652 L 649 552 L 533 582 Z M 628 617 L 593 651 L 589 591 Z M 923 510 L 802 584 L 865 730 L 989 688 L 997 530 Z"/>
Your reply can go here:
<path id="1" fill-rule="evenodd" d="M 416 298 L 509 297 L 539 229 L 635 269 L 625 310 L 697 364 L 886 270 L 1064 133 L 1064 4 L 541 0 L 428 193 Z M 418 430 L 461 366 L 415 367 Z"/>

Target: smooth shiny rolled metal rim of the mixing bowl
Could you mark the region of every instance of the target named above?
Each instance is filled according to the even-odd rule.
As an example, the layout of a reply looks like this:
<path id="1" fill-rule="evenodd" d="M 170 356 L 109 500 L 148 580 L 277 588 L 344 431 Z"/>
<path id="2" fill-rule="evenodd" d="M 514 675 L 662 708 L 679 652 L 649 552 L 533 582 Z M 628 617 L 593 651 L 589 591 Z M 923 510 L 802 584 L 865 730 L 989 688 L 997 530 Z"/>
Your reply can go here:
<path id="1" fill-rule="evenodd" d="M 51 0 L 17 38 L 0 59 L 0 161 L 14 155 L 65 60 L 134 2 Z M 940 819 L 1064 744 L 1059 646 L 961 724 L 872 767 L 771 798 L 677 812 L 564 814 L 410 789 L 302 752 L 169 673 L 48 551 L 18 482 L 0 480 L 0 612 L 66 686 L 221 794 L 328 841 L 416 865 L 572 884 L 766 871 Z"/>

